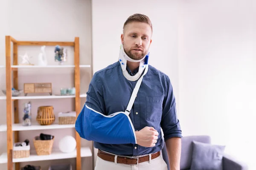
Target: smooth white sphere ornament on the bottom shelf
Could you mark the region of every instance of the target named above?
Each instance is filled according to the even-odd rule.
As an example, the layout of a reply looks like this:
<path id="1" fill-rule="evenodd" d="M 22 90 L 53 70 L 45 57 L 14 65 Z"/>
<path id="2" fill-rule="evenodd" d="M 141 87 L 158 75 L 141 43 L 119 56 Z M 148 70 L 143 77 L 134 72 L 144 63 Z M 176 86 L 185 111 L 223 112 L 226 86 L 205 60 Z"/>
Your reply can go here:
<path id="1" fill-rule="evenodd" d="M 58 147 L 61 152 L 70 153 L 76 149 L 76 139 L 73 136 L 64 136 Z"/>

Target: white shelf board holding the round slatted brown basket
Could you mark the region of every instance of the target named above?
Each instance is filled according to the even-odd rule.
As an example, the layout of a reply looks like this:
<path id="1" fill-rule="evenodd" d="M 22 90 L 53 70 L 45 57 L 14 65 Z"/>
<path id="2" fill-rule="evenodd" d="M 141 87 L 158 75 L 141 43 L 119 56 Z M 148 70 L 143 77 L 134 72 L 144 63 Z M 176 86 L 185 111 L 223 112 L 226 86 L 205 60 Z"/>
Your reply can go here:
<path id="1" fill-rule="evenodd" d="M 44 130 L 44 129 L 64 129 L 64 128 L 74 128 L 75 124 L 70 125 L 40 125 L 38 123 L 32 123 L 31 126 L 23 126 L 22 123 L 12 124 L 12 131 L 24 131 L 24 130 Z M 6 132 L 7 126 L 0 125 L 0 132 Z"/>

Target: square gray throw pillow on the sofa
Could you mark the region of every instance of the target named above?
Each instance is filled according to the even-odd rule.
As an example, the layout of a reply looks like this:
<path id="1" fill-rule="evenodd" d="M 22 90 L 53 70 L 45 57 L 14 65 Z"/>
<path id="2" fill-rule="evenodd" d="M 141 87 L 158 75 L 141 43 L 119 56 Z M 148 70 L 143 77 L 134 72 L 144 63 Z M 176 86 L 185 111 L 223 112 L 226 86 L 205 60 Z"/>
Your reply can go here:
<path id="1" fill-rule="evenodd" d="M 225 146 L 192 142 L 191 170 L 223 170 L 222 158 Z"/>

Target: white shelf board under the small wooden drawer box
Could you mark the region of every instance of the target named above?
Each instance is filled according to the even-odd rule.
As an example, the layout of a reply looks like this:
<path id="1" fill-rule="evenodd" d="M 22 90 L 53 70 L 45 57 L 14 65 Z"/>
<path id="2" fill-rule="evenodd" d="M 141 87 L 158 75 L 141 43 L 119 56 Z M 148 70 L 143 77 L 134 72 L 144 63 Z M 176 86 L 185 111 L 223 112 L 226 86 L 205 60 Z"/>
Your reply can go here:
<path id="1" fill-rule="evenodd" d="M 80 97 L 86 97 L 86 94 L 80 94 Z M 12 99 L 64 99 L 64 98 L 75 98 L 76 95 L 67 95 L 67 96 L 61 96 L 61 95 L 47 95 L 47 96 L 13 96 Z M 0 96 L 0 99 L 4 100 L 6 99 L 6 96 Z"/>

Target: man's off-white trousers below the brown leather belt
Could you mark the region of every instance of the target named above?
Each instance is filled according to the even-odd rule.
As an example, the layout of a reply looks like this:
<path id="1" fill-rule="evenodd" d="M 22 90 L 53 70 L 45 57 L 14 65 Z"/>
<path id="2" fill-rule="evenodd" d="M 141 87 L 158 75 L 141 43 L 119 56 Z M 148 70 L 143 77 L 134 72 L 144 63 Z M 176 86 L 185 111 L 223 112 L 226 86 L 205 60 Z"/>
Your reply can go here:
<path id="1" fill-rule="evenodd" d="M 97 156 L 94 170 L 167 170 L 167 164 L 163 160 L 162 154 L 155 159 L 139 163 L 138 165 L 115 164 L 114 162 L 105 161 Z"/>

